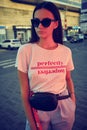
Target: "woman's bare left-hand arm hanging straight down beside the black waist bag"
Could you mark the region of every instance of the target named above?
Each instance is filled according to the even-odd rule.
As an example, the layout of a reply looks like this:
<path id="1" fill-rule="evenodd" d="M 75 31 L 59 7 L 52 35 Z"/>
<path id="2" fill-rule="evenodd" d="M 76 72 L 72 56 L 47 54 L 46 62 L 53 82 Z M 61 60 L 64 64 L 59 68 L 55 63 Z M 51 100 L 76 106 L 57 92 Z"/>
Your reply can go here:
<path id="1" fill-rule="evenodd" d="M 27 73 L 21 72 L 18 70 L 18 77 L 20 82 L 20 88 L 21 88 L 21 97 L 23 101 L 23 106 L 25 109 L 26 117 L 30 123 L 31 130 L 37 130 L 34 117 L 32 114 L 32 109 L 29 104 L 29 81 L 28 81 L 28 75 Z"/>

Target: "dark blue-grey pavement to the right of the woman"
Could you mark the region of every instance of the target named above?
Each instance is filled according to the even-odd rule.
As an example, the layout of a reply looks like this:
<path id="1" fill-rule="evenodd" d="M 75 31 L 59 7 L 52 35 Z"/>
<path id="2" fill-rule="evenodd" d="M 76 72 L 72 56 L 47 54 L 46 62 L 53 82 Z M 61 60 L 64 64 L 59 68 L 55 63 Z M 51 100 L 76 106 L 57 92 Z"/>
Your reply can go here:
<path id="1" fill-rule="evenodd" d="M 72 77 L 77 99 L 76 120 L 73 130 L 87 130 L 87 40 L 71 45 L 75 70 Z"/>

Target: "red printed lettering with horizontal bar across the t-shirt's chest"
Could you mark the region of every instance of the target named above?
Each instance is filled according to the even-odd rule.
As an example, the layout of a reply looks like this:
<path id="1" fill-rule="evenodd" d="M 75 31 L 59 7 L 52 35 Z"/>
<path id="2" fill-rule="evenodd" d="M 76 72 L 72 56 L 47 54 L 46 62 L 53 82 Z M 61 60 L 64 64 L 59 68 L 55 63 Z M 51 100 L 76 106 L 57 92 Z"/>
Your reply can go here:
<path id="1" fill-rule="evenodd" d="M 37 62 L 37 65 L 31 67 L 32 70 L 37 70 L 38 74 L 64 73 L 66 66 L 61 61 L 46 61 Z"/>

